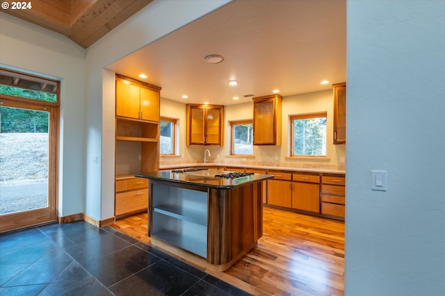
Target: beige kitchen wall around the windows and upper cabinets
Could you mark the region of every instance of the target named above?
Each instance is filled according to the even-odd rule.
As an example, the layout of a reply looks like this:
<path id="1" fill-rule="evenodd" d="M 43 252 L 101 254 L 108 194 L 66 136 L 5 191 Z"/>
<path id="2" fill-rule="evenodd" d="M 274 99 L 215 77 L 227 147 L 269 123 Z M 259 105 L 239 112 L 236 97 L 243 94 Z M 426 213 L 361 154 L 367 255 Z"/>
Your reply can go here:
<path id="1" fill-rule="evenodd" d="M 346 145 L 333 145 L 333 97 L 332 90 L 311 92 L 284 97 L 282 102 L 282 145 L 254 146 L 254 158 L 234 158 L 229 155 L 228 122 L 233 120 L 252 119 L 253 103 L 225 106 L 224 145 L 218 146 L 186 146 L 186 104 L 168 99 L 161 99 L 161 116 L 179 119 L 180 147 L 179 157 L 161 158 L 160 164 L 202 162 L 204 150 L 211 151 L 210 161 L 214 163 L 245 164 L 245 165 L 273 165 L 284 167 L 326 167 L 344 169 L 345 163 L 340 158 L 346 154 Z M 329 161 L 290 160 L 289 156 L 289 115 L 302 113 L 327 112 L 327 156 Z M 184 156 L 184 157 L 181 157 Z M 278 160 L 275 160 L 277 156 Z"/>

